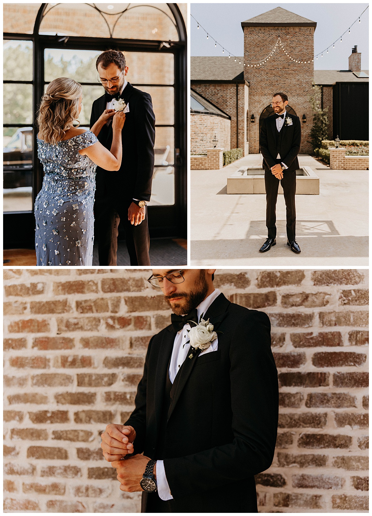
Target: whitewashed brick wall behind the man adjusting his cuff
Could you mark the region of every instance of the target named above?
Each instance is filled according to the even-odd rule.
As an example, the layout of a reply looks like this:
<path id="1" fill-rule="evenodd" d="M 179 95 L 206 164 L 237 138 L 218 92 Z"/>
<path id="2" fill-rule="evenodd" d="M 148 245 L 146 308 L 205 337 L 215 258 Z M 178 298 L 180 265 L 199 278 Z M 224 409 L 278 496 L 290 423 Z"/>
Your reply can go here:
<path id="1" fill-rule="evenodd" d="M 280 382 L 260 512 L 367 511 L 367 270 L 218 270 L 265 311 Z M 126 420 L 151 335 L 170 310 L 149 270 L 4 272 L 5 511 L 136 512 L 100 433 Z"/>

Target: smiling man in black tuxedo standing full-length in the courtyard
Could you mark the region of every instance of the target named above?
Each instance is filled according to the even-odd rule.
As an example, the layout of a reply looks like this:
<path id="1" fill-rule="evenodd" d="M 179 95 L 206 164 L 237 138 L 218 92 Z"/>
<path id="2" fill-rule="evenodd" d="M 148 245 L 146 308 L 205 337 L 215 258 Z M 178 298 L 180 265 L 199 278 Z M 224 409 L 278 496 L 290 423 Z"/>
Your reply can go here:
<path id="1" fill-rule="evenodd" d="M 296 242 L 296 170 L 299 168 L 297 154 L 301 146 L 301 122 L 294 115 L 288 115 L 285 93 L 274 93 L 272 108 L 274 116 L 264 119 L 260 133 L 260 149 L 263 155 L 266 188 L 267 239 L 260 252 L 276 245 L 276 204 L 279 181 L 283 187 L 287 216 L 287 246 L 294 253 L 300 253 Z"/>

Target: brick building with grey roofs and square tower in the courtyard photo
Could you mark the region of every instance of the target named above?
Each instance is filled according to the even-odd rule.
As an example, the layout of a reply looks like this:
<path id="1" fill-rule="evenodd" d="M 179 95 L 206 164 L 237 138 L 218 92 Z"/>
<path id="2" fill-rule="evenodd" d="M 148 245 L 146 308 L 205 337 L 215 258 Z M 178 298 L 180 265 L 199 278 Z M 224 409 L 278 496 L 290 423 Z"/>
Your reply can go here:
<path id="1" fill-rule="evenodd" d="M 231 116 L 231 148 L 239 147 L 245 155 L 259 152 L 262 121 L 273 112 L 271 95 L 284 91 L 287 110 L 301 120 L 300 152 L 311 152 L 309 96 L 313 82 L 322 86 L 322 103 L 329 108 L 329 138 L 338 134 L 342 139 L 368 139 L 368 71 L 360 70 L 356 47 L 349 58 L 349 70 L 314 70 L 316 22 L 277 7 L 242 22 L 241 27 L 244 56 L 236 60 L 191 57 L 191 88 Z M 347 86 L 339 86 L 341 83 Z M 355 110 L 361 114 L 361 124 L 356 121 Z M 338 120 L 341 111 L 343 125 Z"/>

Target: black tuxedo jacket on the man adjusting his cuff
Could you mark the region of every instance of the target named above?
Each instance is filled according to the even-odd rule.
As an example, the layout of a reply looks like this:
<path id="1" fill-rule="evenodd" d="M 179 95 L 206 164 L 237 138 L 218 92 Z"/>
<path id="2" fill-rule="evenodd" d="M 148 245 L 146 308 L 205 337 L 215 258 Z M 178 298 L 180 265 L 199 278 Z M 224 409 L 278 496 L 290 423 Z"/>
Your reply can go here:
<path id="1" fill-rule="evenodd" d="M 164 456 L 156 457 L 156 446 L 172 326 L 150 341 L 136 408 L 125 424 L 136 430 L 135 454 L 164 459 L 172 512 L 257 512 L 254 475 L 271 465 L 278 428 L 270 321 L 223 294 L 205 318 L 223 333 L 217 351 L 186 358 L 180 369 Z"/>

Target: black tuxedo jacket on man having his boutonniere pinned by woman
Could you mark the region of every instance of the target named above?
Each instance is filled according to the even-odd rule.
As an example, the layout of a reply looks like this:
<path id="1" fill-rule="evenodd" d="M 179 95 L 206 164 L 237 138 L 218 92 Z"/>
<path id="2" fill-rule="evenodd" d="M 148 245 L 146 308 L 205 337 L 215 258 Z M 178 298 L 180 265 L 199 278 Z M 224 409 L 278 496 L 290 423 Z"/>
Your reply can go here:
<path id="1" fill-rule="evenodd" d="M 122 98 L 129 102 L 130 112 L 126 113 L 121 132 L 123 156 L 120 170 L 96 170 L 95 199 L 115 204 L 125 204 L 131 199 L 149 201 L 152 174 L 154 171 L 155 115 L 149 93 L 134 88 L 130 83 L 123 90 Z M 92 105 L 90 127 L 106 109 L 105 95 Z M 102 127 L 99 141 L 110 150 L 112 143 L 112 123 Z"/>

